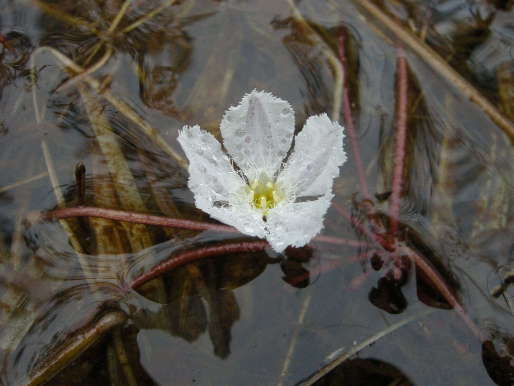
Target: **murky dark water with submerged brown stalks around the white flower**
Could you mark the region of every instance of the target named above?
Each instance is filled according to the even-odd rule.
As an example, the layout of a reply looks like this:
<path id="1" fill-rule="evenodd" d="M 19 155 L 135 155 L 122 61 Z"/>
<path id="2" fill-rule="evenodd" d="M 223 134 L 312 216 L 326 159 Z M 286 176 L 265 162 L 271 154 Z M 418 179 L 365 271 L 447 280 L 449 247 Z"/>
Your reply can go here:
<path id="1" fill-rule="evenodd" d="M 377 3 L 389 24 L 363 1 L 0 4 L 1 384 L 292 385 L 409 317 L 318 383 L 514 383 L 514 151 L 508 125 L 469 94 L 514 120 L 512 2 Z M 402 49 L 407 138 L 391 237 L 464 314 L 418 260 L 384 251 L 338 210 L 373 234 L 389 227 Z M 344 124 L 343 78 L 374 204 L 346 132 L 321 232 L 331 242 L 205 259 L 135 291 L 160 261 L 249 237 L 38 219 L 84 204 L 213 222 L 173 155 L 178 130 L 219 139 L 224 111 L 252 89 L 289 101 L 297 132 L 323 112 Z"/>

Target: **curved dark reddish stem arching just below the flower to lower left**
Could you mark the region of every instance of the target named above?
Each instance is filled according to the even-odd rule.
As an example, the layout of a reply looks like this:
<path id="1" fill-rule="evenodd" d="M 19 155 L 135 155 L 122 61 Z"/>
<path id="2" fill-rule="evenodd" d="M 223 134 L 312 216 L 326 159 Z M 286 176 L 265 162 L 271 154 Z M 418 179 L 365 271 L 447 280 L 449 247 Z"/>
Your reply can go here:
<path id="1" fill-rule="evenodd" d="M 153 267 L 151 270 L 137 275 L 130 288 L 134 289 L 142 286 L 150 280 L 161 276 L 163 273 L 168 272 L 174 268 L 188 264 L 192 261 L 207 259 L 210 257 L 223 256 L 229 253 L 243 253 L 243 252 L 256 252 L 263 251 L 269 247 L 266 241 L 241 241 L 232 242 L 227 244 L 210 245 L 209 247 L 198 248 L 193 251 L 179 253 L 176 256 L 170 257 Z"/>

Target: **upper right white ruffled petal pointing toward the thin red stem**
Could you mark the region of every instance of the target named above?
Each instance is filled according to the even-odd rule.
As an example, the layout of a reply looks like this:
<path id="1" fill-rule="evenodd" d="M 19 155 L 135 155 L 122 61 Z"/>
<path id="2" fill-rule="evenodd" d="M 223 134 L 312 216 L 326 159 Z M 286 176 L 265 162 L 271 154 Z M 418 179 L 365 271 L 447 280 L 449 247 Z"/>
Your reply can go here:
<path id="1" fill-rule="evenodd" d="M 339 166 L 346 161 L 343 138 L 343 128 L 326 114 L 309 117 L 295 137 L 295 149 L 277 178 L 277 186 L 294 191 L 296 197 L 331 190 Z"/>

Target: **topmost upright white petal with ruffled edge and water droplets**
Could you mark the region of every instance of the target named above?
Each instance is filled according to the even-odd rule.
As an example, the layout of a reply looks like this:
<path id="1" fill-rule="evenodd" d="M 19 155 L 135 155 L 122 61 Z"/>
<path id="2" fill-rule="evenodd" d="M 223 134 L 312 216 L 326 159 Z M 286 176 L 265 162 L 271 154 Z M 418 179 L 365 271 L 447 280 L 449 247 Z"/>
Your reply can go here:
<path id="1" fill-rule="evenodd" d="M 279 169 L 291 146 L 295 115 L 287 101 L 253 90 L 237 107 L 225 112 L 223 144 L 248 178 Z"/>

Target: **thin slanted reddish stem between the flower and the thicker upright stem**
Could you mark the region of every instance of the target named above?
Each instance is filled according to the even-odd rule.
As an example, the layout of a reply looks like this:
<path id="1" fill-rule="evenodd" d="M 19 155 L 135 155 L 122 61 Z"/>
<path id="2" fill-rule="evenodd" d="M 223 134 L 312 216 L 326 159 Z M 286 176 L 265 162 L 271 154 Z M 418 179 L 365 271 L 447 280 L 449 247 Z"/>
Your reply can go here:
<path id="1" fill-rule="evenodd" d="M 355 137 L 355 128 L 352 118 L 352 108 L 350 106 L 350 95 L 348 94 L 348 79 L 346 76 L 346 57 L 344 56 L 344 40 L 345 40 L 345 27 L 339 29 L 339 60 L 343 67 L 343 112 L 344 121 L 346 122 L 346 129 L 348 130 L 348 136 L 350 137 L 350 144 L 352 145 L 352 152 L 355 157 L 355 165 L 359 174 L 359 183 L 362 189 L 362 194 L 365 199 L 371 201 L 370 191 L 368 190 L 368 184 L 366 184 L 366 175 L 364 168 L 362 167 L 362 160 L 360 157 L 359 147 L 357 146 L 357 138 Z"/>

